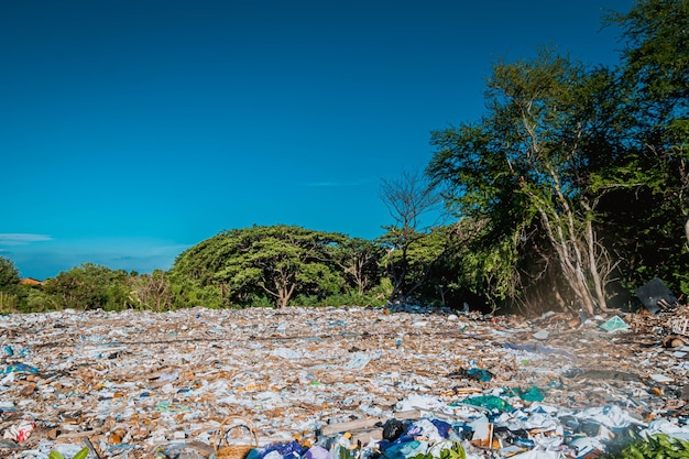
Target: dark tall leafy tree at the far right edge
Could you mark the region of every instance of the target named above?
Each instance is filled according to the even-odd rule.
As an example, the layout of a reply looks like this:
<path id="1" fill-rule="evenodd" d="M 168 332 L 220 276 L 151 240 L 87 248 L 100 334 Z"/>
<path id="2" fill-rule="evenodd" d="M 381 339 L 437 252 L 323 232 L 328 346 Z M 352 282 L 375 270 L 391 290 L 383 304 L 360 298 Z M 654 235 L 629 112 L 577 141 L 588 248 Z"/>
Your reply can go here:
<path id="1" fill-rule="evenodd" d="M 604 209 L 632 283 L 660 276 L 689 288 L 689 2 L 641 0 L 608 23 L 624 48 L 620 87 L 625 122 L 621 162 L 601 168 Z M 685 285 L 681 285 L 681 284 Z"/>

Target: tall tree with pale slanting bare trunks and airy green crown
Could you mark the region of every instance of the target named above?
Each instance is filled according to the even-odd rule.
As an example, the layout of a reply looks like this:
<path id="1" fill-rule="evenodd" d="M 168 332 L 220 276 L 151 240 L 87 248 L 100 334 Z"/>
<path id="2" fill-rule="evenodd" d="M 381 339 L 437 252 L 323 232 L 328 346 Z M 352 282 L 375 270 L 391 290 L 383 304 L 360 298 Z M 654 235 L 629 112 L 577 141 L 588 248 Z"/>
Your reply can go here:
<path id="1" fill-rule="evenodd" d="M 499 63 L 488 81 L 488 114 L 435 132 L 428 166 L 459 217 L 480 223 L 485 252 L 512 263 L 503 275 L 518 275 L 531 245 L 589 314 L 605 308 L 610 267 L 601 264 L 606 250 L 593 225 L 597 196 L 587 189 L 591 159 L 609 152 L 602 127 L 611 122 L 613 87 L 610 72 L 549 50 Z M 490 277 L 493 266 L 483 269 Z"/>

